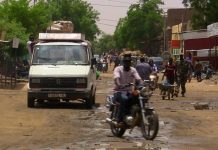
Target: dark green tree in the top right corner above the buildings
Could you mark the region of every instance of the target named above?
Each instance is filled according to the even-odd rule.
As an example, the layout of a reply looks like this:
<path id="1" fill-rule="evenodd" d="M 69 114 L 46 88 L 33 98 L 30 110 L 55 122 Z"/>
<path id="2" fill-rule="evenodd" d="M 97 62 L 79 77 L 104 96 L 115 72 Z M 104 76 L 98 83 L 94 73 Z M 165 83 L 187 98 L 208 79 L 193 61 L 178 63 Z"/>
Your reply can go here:
<path id="1" fill-rule="evenodd" d="M 184 5 L 194 9 L 192 26 L 194 29 L 205 29 L 207 25 L 218 21 L 217 0 L 184 0 Z"/>

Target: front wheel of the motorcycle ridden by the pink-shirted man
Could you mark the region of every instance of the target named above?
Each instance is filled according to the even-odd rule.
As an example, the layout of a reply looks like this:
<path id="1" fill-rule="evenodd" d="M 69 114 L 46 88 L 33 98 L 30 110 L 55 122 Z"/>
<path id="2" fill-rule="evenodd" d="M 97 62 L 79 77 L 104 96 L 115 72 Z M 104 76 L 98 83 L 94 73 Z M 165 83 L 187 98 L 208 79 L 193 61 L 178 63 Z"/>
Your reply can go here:
<path id="1" fill-rule="evenodd" d="M 159 130 L 159 119 L 158 115 L 154 111 L 145 114 L 146 122 L 142 121 L 141 131 L 142 135 L 146 140 L 153 140 Z"/>

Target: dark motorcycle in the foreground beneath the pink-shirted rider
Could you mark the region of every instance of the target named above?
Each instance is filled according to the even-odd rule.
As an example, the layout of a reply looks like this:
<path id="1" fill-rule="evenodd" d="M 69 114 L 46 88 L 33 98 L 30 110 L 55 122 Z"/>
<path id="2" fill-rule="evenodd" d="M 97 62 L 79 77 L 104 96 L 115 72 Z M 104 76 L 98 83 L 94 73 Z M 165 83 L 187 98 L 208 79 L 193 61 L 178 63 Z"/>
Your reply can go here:
<path id="1" fill-rule="evenodd" d="M 148 81 L 150 82 L 150 81 Z M 111 112 L 110 118 L 106 119 L 106 122 L 110 124 L 111 132 L 114 136 L 122 137 L 127 129 L 132 130 L 138 126 L 141 128 L 142 136 L 146 140 L 153 140 L 159 130 L 159 119 L 153 107 L 149 106 L 149 99 L 151 92 L 149 85 L 146 83 L 145 86 L 135 86 L 129 84 L 127 86 L 134 86 L 133 95 L 136 103 L 130 107 L 129 113 L 124 116 L 124 124 L 119 125 L 117 123 L 119 103 L 114 100 L 114 96 L 110 95 L 106 100 L 106 107 Z"/>

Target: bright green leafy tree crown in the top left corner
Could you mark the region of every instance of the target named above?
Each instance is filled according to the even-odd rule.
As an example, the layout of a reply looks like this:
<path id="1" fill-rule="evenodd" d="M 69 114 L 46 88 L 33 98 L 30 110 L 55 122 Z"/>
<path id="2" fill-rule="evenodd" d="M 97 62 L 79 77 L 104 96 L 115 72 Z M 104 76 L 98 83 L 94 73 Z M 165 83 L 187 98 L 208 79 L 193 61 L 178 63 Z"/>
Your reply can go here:
<path id="1" fill-rule="evenodd" d="M 1 19 L 21 24 L 29 34 L 45 31 L 50 22 L 50 11 L 43 0 L 30 6 L 29 0 L 4 0 L 0 5 Z"/>

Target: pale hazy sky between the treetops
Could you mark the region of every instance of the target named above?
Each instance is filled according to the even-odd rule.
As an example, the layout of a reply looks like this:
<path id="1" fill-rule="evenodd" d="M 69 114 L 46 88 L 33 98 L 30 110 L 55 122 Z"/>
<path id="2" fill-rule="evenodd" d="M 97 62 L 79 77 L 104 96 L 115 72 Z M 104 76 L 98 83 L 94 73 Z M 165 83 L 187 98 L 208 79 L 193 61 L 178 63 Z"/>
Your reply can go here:
<path id="1" fill-rule="evenodd" d="M 119 18 L 126 16 L 128 8 L 131 4 L 137 3 L 139 0 L 86 0 L 90 3 L 99 15 L 98 27 L 106 34 L 113 34 Z M 164 11 L 169 8 L 183 8 L 182 0 L 164 0 L 161 6 Z"/>

